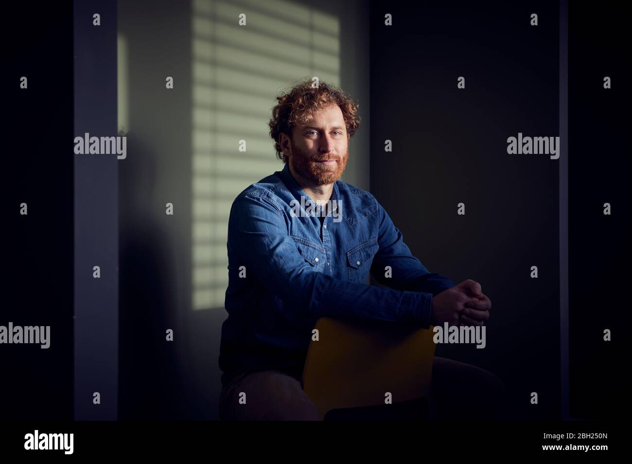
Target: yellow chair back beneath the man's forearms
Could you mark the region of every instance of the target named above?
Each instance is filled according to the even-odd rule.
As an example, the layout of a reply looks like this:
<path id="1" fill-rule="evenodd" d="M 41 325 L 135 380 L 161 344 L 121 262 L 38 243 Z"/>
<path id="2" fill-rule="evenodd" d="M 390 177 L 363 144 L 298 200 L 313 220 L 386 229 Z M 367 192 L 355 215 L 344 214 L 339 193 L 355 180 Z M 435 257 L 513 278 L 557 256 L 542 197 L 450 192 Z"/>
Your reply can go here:
<path id="1" fill-rule="evenodd" d="M 427 397 L 432 380 L 434 332 L 402 324 L 353 323 L 320 318 L 303 370 L 303 390 L 324 419 L 337 408 Z"/>

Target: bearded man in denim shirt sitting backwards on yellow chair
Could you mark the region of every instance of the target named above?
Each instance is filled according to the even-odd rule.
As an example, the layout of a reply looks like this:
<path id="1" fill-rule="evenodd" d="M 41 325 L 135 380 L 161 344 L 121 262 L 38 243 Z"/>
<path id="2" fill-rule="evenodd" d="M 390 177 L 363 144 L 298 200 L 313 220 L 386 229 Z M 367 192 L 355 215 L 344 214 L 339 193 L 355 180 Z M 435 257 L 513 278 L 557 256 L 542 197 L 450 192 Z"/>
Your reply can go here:
<path id="1" fill-rule="evenodd" d="M 305 81 L 277 100 L 270 136 L 285 166 L 241 192 L 228 223 L 229 316 L 219 356 L 219 413 L 227 420 L 319 419 L 301 374 L 323 316 L 471 326 L 491 307 L 477 282 L 454 285 L 430 273 L 375 197 L 338 180 L 360 125 L 351 98 Z M 369 272 L 390 288 L 367 285 Z M 435 357 L 434 410 L 462 417 L 471 401 L 462 399 L 464 388 L 479 412 L 494 414 L 499 379 Z"/>

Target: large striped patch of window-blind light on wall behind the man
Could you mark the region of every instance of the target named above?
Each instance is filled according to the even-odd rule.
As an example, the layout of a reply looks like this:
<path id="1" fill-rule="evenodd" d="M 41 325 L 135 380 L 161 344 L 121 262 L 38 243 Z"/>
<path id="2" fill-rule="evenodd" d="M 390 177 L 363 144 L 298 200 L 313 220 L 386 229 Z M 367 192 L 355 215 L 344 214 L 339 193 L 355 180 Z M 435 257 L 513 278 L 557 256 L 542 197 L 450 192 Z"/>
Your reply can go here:
<path id="1" fill-rule="evenodd" d="M 340 26 L 336 16 L 283 0 L 193 0 L 191 8 L 192 306 L 213 309 L 224 307 L 228 287 L 231 204 L 283 169 L 267 126 L 276 96 L 312 76 L 339 85 Z"/>

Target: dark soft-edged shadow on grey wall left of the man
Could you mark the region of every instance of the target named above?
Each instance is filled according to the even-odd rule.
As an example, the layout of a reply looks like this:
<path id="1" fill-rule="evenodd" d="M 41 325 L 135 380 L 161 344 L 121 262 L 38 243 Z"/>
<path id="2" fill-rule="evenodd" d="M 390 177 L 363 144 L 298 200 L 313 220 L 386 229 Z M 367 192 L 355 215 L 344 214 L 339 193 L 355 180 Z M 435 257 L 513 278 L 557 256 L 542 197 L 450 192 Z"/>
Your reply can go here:
<path id="1" fill-rule="evenodd" d="M 162 225 L 147 213 L 155 159 L 128 136 L 134 156 L 119 163 L 119 420 L 177 419 L 179 364 L 167 342 L 174 295 L 171 248 Z"/>

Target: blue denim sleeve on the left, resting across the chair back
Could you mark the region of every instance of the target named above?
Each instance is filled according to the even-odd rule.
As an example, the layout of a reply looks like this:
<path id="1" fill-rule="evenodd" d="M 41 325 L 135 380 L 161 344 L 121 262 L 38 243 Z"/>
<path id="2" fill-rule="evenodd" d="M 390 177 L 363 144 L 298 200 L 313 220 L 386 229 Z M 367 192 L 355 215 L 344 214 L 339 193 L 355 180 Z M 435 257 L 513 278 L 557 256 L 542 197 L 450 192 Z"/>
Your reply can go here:
<path id="1" fill-rule="evenodd" d="M 313 318 L 380 319 L 422 328 L 430 324 L 430 294 L 383 289 L 315 271 L 288 235 L 281 209 L 267 198 L 245 194 L 234 201 L 228 239 L 238 266 L 246 266 L 246 272 L 293 311 Z"/>

